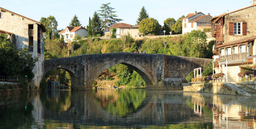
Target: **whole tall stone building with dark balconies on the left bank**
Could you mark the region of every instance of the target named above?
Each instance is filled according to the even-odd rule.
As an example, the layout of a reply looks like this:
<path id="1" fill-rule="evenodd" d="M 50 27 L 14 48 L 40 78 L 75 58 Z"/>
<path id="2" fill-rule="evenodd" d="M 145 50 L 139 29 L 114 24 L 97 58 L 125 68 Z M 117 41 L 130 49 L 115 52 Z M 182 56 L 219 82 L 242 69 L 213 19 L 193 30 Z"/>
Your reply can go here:
<path id="1" fill-rule="evenodd" d="M 11 42 L 18 50 L 28 47 L 32 57 L 38 57 L 33 69 L 35 77 L 31 81 L 31 85 L 38 89 L 44 71 L 43 32 L 46 32 L 44 25 L 0 7 L 0 32 L 9 34 Z"/>

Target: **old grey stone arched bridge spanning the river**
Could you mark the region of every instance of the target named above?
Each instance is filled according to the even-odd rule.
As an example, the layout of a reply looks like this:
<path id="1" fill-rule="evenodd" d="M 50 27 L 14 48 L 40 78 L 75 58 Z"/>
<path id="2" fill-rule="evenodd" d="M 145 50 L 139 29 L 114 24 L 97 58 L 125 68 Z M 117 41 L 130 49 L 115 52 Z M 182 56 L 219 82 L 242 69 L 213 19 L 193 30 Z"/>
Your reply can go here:
<path id="1" fill-rule="evenodd" d="M 148 90 L 182 90 L 181 82 L 194 68 L 204 67 L 212 59 L 165 54 L 108 53 L 84 54 L 44 60 L 44 74 L 61 68 L 71 76 L 73 90 L 92 90 L 97 77 L 115 64 L 135 70 L 146 82 Z"/>

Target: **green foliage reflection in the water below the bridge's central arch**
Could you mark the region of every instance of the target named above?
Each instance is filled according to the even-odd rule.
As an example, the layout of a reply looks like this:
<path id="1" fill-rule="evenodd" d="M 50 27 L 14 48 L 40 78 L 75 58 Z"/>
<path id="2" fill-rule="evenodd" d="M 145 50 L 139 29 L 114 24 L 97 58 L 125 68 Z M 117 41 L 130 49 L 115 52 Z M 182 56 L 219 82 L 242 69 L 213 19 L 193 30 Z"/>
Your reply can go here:
<path id="1" fill-rule="evenodd" d="M 146 97 L 145 90 L 98 90 L 93 92 L 100 105 L 116 116 L 125 116 L 137 110 Z"/>

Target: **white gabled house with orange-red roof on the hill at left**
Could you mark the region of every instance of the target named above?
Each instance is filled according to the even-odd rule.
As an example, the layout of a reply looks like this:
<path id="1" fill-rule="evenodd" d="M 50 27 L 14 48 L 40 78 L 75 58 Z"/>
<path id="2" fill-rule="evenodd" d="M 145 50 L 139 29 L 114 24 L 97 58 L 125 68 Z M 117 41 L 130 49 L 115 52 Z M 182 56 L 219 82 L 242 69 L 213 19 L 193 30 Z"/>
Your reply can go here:
<path id="1" fill-rule="evenodd" d="M 66 43 L 69 43 L 73 41 L 76 35 L 79 35 L 81 37 L 83 36 L 87 37 L 88 30 L 85 29 L 83 26 L 76 26 L 76 27 L 67 26 L 64 30 L 62 30 L 59 33 L 60 33 L 60 36 L 63 36 L 64 41 Z"/>

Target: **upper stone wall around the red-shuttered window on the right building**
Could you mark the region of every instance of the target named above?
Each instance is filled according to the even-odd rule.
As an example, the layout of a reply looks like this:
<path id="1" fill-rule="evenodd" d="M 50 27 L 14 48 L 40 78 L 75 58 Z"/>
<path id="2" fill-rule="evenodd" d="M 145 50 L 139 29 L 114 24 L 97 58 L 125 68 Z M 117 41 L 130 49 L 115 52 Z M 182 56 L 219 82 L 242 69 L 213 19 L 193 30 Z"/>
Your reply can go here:
<path id="1" fill-rule="evenodd" d="M 225 16 L 225 43 L 241 38 L 254 36 L 256 34 L 256 6 L 230 13 Z M 229 22 L 247 22 L 247 35 L 229 35 Z M 242 24 L 241 24 L 242 33 Z"/>

